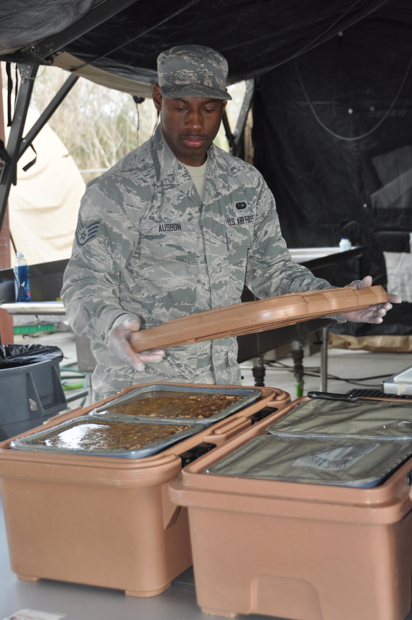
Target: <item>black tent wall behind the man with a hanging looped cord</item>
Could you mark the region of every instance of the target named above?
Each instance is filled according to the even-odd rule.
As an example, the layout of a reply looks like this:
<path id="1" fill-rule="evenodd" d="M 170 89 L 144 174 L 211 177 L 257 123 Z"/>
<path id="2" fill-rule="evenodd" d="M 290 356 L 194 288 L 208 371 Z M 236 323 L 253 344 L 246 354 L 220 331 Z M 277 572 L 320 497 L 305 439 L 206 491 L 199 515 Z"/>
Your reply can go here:
<path id="1" fill-rule="evenodd" d="M 405 78 L 411 27 L 410 4 L 398 0 L 256 84 L 254 163 L 274 193 L 287 244 L 336 246 L 348 236 L 353 244 L 367 246 L 360 272 L 356 264 L 339 270 L 335 285 L 367 273 L 375 284 L 385 285 L 383 250 L 409 251 L 412 195 L 386 207 L 376 206 L 371 196 L 384 184 L 379 156 L 387 157 L 382 167 L 390 175 L 391 156 L 386 154 L 403 148 L 401 162 L 412 168 L 412 70 L 388 117 L 354 141 L 335 138 L 318 123 L 303 88 L 318 118 L 334 133 L 367 133 L 387 112 Z M 399 172 L 395 166 L 392 174 Z M 374 329 L 412 334 L 410 319 L 409 308 L 394 309 Z"/>

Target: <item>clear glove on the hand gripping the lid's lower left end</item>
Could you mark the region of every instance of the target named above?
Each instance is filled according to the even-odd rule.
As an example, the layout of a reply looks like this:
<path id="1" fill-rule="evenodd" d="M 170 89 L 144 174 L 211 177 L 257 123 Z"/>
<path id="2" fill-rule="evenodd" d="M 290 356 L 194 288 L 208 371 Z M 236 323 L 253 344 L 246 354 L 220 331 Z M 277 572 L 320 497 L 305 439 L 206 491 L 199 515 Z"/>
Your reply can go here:
<path id="1" fill-rule="evenodd" d="M 146 364 L 163 360 L 164 351 L 135 353 L 132 347 L 130 347 L 128 339 L 130 334 L 138 332 L 140 327 L 140 319 L 135 314 L 120 314 L 109 329 L 107 347 L 110 353 L 117 357 L 118 360 L 122 360 L 123 363 L 133 366 L 133 368 L 141 372 L 145 370 Z"/>

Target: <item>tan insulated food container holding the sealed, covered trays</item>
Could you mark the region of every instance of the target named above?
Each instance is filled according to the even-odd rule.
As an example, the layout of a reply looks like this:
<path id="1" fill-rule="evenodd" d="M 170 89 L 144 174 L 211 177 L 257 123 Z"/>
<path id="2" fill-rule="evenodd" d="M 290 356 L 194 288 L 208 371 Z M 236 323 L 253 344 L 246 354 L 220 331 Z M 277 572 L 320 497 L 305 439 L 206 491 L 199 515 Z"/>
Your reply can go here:
<path id="1" fill-rule="evenodd" d="M 403 620 L 411 608 L 412 459 L 369 489 L 204 472 L 304 400 L 171 483 L 172 501 L 189 508 L 197 601 L 228 618 Z"/>

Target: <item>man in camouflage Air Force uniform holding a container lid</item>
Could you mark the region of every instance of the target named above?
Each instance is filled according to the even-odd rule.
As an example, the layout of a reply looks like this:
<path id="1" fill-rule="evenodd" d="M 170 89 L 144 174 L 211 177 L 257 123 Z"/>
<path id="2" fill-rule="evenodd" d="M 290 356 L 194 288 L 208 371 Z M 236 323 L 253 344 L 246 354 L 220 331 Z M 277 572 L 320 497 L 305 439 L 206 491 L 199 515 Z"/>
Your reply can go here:
<path id="1" fill-rule="evenodd" d="M 258 170 L 212 144 L 227 73 L 210 48 L 162 53 L 161 125 L 87 185 L 61 297 L 74 332 L 92 340 L 95 402 L 148 381 L 241 384 L 235 338 L 137 355 L 133 330 L 238 304 L 244 283 L 258 298 L 330 288 L 290 258 Z M 205 162 L 200 197 L 192 173 Z M 389 308 L 346 318 L 380 322 Z"/>

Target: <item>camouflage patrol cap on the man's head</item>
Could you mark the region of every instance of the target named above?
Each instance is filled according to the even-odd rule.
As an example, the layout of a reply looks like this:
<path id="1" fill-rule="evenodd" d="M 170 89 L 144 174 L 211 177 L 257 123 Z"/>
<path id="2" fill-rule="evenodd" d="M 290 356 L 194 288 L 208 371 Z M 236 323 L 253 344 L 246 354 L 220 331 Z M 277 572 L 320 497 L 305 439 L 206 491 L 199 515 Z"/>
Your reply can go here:
<path id="1" fill-rule="evenodd" d="M 177 45 L 158 57 L 159 91 L 163 97 L 231 99 L 226 92 L 228 63 L 203 45 Z"/>

